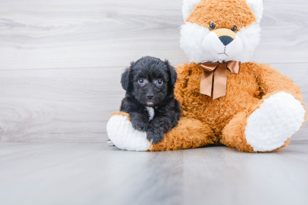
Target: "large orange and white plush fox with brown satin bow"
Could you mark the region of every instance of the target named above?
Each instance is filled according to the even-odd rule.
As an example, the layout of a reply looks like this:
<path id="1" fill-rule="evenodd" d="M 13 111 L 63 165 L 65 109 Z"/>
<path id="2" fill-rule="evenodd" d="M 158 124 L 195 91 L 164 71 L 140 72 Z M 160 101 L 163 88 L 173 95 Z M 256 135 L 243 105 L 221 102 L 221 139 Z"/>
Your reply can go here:
<path id="1" fill-rule="evenodd" d="M 180 46 L 192 63 L 177 66 L 179 124 L 151 144 L 127 113 L 113 113 L 107 134 L 134 151 L 226 145 L 269 152 L 287 146 L 304 124 L 297 85 L 269 65 L 251 62 L 260 39 L 262 0 L 184 0 Z"/>

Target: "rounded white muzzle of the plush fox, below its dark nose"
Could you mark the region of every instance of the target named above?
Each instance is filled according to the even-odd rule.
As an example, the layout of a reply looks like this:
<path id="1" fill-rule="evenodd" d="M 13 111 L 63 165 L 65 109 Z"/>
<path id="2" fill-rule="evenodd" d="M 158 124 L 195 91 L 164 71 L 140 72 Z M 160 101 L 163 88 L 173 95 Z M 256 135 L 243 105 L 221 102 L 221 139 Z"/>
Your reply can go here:
<path id="1" fill-rule="evenodd" d="M 235 34 L 234 40 L 225 46 L 214 31 L 203 38 L 202 47 L 205 52 L 219 59 L 219 61 L 233 58 L 243 50 L 242 41 L 237 34 Z"/>

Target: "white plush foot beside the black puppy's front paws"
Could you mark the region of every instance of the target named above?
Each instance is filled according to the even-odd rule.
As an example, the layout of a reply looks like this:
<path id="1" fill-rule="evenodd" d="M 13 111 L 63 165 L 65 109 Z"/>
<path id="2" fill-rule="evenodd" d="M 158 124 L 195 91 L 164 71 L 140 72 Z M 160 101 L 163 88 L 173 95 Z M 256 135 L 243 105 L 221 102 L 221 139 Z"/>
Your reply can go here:
<path id="1" fill-rule="evenodd" d="M 107 123 L 107 135 L 122 150 L 146 151 L 151 146 L 146 133 L 135 130 L 127 116 L 113 115 Z"/>

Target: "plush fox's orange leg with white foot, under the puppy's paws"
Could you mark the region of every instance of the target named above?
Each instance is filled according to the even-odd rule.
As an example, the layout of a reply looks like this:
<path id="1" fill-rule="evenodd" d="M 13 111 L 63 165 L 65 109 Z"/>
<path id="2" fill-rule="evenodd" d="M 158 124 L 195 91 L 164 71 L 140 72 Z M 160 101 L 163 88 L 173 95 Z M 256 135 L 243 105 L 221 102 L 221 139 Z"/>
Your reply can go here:
<path id="1" fill-rule="evenodd" d="M 163 141 L 153 145 L 146 140 L 146 132 L 132 127 L 129 115 L 113 113 L 107 123 L 107 134 L 120 149 L 131 151 L 159 151 L 195 148 L 212 144 L 216 137 L 206 124 L 199 120 L 181 118 L 179 124 L 165 134 Z"/>

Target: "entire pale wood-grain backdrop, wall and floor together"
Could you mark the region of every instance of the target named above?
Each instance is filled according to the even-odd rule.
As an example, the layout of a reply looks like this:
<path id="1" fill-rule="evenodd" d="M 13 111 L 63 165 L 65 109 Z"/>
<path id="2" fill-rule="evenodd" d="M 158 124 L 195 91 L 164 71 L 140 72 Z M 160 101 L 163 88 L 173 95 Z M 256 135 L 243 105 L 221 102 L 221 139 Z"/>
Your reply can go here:
<path id="1" fill-rule="evenodd" d="M 308 103 L 307 0 L 263 0 L 253 60 Z M 308 127 L 276 153 L 122 151 L 106 123 L 145 55 L 187 62 L 182 0 L 0 1 L 0 204 L 307 204 Z"/>

